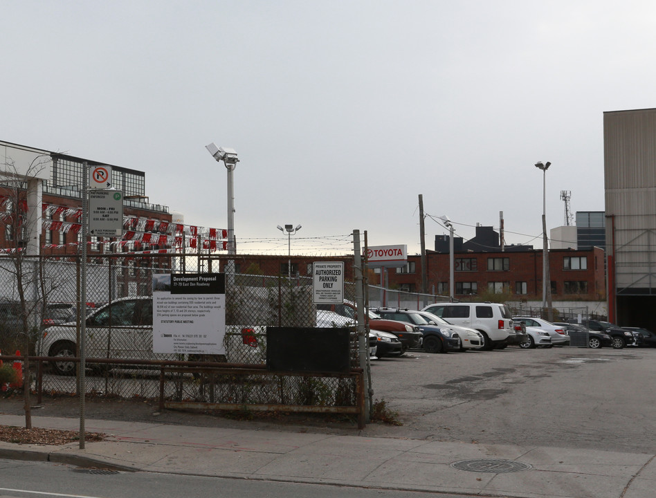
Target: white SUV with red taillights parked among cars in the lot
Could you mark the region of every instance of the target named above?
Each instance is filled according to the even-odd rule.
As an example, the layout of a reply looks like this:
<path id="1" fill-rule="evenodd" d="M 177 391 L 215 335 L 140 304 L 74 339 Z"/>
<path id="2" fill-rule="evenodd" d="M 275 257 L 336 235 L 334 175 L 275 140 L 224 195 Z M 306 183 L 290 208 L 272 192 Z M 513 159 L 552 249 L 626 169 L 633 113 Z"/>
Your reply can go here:
<path id="1" fill-rule="evenodd" d="M 475 329 L 483 334 L 483 349 L 504 348 L 515 335 L 512 315 L 505 304 L 459 302 L 430 304 L 421 311 L 444 318 L 454 325 Z M 509 341 L 509 338 L 511 339 Z"/>

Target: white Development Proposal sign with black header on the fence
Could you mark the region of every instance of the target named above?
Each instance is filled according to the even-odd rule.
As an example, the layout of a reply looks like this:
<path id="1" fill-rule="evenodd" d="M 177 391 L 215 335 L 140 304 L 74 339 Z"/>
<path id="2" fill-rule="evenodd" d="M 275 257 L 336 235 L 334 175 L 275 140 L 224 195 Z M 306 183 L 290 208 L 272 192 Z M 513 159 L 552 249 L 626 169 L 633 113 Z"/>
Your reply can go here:
<path id="1" fill-rule="evenodd" d="M 153 352 L 226 354 L 226 275 L 153 275 Z"/>

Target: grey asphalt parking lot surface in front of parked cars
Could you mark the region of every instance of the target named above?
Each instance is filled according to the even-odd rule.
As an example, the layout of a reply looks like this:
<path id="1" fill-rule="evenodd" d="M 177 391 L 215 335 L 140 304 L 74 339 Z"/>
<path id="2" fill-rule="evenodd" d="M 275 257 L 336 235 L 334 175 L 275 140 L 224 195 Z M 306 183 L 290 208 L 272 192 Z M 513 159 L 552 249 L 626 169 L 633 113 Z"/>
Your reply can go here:
<path id="1" fill-rule="evenodd" d="M 417 350 L 372 361 L 372 385 L 399 414 L 399 437 L 654 452 L 655 358 L 630 347 Z"/>

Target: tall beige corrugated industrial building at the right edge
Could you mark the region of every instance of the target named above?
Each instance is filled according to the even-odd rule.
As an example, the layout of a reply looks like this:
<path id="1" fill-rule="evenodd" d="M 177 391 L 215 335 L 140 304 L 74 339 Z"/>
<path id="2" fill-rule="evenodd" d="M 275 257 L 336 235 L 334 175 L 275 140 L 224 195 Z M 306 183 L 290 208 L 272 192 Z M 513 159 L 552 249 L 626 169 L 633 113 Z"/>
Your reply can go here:
<path id="1" fill-rule="evenodd" d="M 603 114 L 609 320 L 656 330 L 656 109 Z"/>

